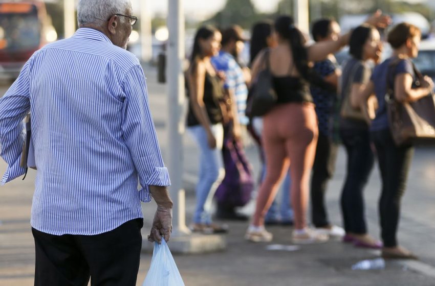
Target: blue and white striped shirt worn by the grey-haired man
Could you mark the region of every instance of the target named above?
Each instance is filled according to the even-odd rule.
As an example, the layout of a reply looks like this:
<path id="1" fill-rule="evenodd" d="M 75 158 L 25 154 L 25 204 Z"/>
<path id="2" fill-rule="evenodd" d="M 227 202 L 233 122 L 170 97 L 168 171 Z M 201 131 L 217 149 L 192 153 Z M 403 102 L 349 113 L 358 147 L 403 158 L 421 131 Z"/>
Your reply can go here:
<path id="1" fill-rule="evenodd" d="M 0 99 L 1 184 L 19 166 L 31 111 L 37 167 L 31 225 L 94 235 L 142 218 L 149 185 L 170 185 L 139 60 L 81 28 L 37 51 Z M 138 180 L 142 189 L 138 191 Z"/>

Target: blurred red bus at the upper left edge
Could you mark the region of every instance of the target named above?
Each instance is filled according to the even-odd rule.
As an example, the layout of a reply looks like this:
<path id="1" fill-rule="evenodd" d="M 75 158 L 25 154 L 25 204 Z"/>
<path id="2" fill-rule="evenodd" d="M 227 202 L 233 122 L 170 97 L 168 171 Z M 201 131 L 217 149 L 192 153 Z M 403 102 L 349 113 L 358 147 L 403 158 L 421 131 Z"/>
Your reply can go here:
<path id="1" fill-rule="evenodd" d="M 0 78 L 16 78 L 24 63 L 47 43 L 47 19 L 42 1 L 0 0 Z"/>

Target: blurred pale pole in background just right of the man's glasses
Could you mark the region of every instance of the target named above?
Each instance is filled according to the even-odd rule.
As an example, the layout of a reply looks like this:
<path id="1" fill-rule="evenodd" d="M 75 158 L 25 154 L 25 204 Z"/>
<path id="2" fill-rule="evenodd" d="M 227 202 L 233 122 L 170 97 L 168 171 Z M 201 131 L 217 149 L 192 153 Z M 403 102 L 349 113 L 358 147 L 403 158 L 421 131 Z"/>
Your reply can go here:
<path id="1" fill-rule="evenodd" d="M 149 62 L 153 58 L 153 36 L 151 35 L 151 15 L 149 0 L 140 0 L 140 39 L 141 60 Z"/>

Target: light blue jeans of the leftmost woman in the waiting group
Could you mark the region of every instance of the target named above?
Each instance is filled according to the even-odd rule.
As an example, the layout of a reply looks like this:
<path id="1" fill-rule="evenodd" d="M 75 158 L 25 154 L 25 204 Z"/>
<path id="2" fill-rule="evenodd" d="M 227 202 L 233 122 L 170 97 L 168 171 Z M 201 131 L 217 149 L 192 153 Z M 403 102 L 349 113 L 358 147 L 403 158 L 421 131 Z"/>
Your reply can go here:
<path id="1" fill-rule="evenodd" d="M 199 181 L 196 188 L 197 202 L 193 214 L 193 223 L 211 223 L 211 201 L 214 192 L 224 177 L 222 162 L 222 144 L 224 129 L 222 124 L 211 126 L 216 138 L 216 148 L 208 147 L 207 132 L 201 125 L 188 128 L 200 151 Z"/>

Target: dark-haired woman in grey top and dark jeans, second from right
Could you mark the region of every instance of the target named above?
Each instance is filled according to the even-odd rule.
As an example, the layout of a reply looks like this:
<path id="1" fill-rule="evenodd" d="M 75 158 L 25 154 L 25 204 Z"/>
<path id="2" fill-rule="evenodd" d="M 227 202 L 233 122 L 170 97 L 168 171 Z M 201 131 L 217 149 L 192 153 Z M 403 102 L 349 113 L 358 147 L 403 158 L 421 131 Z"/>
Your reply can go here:
<path id="1" fill-rule="evenodd" d="M 379 63 L 382 42 L 378 30 L 367 25 L 357 27 L 352 32 L 349 47 L 352 57 L 343 67 L 341 102 L 345 98 L 352 101 L 368 83 L 372 71 L 367 62 L 372 60 Z M 366 117 L 374 112 L 368 112 L 367 107 L 362 110 L 367 110 Z M 363 190 L 375 162 L 368 125 L 369 121 L 364 118 L 340 118 L 340 136 L 347 155 L 346 177 L 341 193 L 341 212 L 346 232 L 343 241 L 359 247 L 381 248 L 382 243 L 368 235 L 364 215 Z"/>

